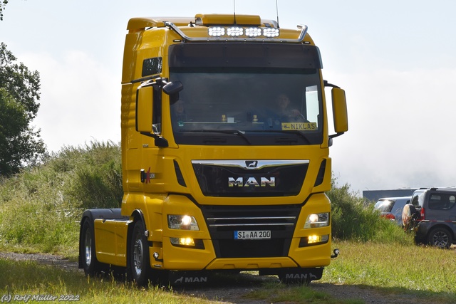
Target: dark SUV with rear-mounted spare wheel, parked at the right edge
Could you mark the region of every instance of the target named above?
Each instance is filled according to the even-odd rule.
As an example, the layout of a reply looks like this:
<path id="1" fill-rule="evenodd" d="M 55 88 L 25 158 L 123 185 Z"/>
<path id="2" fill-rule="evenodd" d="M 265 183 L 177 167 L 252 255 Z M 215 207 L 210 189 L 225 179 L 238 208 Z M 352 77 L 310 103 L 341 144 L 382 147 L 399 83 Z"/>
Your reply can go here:
<path id="1" fill-rule="evenodd" d="M 456 242 L 456 189 L 415 190 L 402 219 L 405 230 L 415 231 L 417 243 L 449 248 Z"/>

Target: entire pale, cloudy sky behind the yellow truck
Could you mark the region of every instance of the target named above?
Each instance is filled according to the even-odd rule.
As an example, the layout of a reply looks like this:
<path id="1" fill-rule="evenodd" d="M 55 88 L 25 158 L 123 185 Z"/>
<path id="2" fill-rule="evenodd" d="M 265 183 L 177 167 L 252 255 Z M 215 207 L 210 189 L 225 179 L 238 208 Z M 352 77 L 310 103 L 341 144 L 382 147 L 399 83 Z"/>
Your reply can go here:
<path id="1" fill-rule="evenodd" d="M 456 186 L 456 1 L 237 0 L 236 14 L 309 26 L 323 78 L 346 90 L 349 130 L 330 156 L 339 185 Z M 234 1 L 11 0 L 0 41 L 41 76 L 33 125 L 48 150 L 120 142 L 128 20 L 232 14 Z M 278 13 L 278 14 L 277 14 Z"/>

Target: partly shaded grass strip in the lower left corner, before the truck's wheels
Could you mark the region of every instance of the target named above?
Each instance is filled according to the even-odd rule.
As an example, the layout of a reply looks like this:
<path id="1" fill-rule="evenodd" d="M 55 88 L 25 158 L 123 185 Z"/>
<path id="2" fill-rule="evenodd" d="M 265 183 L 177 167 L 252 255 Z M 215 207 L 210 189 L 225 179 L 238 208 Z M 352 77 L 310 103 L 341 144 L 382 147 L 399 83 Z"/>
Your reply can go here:
<path id="1" fill-rule="evenodd" d="M 111 277 L 86 278 L 81 271 L 65 271 L 55 266 L 38 265 L 36 262 L 0 260 L 0 273 L 0 296 L 71 295 L 78 297 L 78 303 L 108 304 L 211 303 L 205 298 L 178 295 L 172 290 L 156 286 L 136 288 L 131 283 L 115 281 Z"/>

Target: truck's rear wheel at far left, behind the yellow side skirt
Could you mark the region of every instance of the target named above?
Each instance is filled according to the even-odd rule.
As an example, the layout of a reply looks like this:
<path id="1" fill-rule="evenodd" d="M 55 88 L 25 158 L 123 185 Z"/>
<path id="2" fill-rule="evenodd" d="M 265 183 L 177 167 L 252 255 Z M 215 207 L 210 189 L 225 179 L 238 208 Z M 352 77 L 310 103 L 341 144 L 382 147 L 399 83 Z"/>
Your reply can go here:
<path id="1" fill-rule="evenodd" d="M 95 253 L 95 231 L 93 223 L 89 219 L 83 223 L 79 248 L 84 273 L 86 276 L 95 276 L 101 267 Z"/>

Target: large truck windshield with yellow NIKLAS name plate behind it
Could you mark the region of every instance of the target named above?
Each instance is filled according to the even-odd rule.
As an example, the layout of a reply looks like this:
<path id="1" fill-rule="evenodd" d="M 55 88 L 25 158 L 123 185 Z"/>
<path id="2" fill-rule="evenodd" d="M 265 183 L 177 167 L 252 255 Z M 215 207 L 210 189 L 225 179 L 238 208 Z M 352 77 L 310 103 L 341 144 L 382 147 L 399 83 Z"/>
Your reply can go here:
<path id="1" fill-rule="evenodd" d="M 254 50 L 243 49 L 242 44 L 232 47 L 235 55 L 227 58 L 229 52 L 222 54 L 224 62 L 217 57 L 214 63 L 209 54 L 202 58 L 207 50 L 201 46 L 199 52 L 191 50 L 192 64 L 180 62 L 188 60 L 182 56 L 181 48 L 178 56 L 171 56 L 170 80 L 178 80 L 183 85 L 179 100 L 171 105 L 176 142 L 197 145 L 321 143 L 323 107 L 319 65 L 315 58 L 300 58 L 302 62 L 292 63 L 290 58 L 284 60 L 283 54 L 279 56 L 279 46 L 274 46 L 278 49 L 276 55 L 274 52 L 269 55 L 269 61 L 274 62 L 269 66 L 255 60 L 246 61 L 245 57 L 252 56 L 250 52 Z M 296 56 L 301 49 L 293 48 L 292 55 Z M 214 56 L 219 49 L 209 51 Z M 185 53 L 187 57 L 188 53 Z M 217 66 L 212 66 L 214 64 Z"/>

